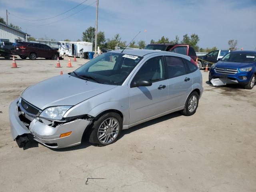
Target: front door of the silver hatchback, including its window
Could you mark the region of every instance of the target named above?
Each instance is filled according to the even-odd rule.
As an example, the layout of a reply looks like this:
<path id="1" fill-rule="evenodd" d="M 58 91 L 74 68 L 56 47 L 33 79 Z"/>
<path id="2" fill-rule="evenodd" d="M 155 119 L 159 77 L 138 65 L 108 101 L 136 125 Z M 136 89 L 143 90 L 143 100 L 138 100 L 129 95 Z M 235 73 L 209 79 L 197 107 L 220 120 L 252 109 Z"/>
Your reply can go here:
<path id="1" fill-rule="evenodd" d="M 138 70 L 132 82 L 151 80 L 152 86 L 129 87 L 130 124 L 150 118 L 168 110 L 168 80 L 165 79 L 162 56 L 148 59 Z M 132 84 L 132 83 L 131 83 Z"/>

